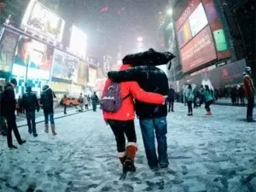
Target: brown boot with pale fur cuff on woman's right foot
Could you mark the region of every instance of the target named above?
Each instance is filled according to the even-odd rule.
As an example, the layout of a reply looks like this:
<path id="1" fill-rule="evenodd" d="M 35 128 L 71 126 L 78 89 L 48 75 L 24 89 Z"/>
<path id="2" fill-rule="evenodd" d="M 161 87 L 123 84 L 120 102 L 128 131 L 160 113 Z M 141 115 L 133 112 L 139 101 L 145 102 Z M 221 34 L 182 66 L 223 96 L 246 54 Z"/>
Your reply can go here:
<path id="1" fill-rule="evenodd" d="M 127 143 L 126 147 L 126 160 L 124 162 L 125 169 L 129 172 L 135 172 L 136 167 L 134 166 L 134 159 L 137 153 L 137 143 Z"/>

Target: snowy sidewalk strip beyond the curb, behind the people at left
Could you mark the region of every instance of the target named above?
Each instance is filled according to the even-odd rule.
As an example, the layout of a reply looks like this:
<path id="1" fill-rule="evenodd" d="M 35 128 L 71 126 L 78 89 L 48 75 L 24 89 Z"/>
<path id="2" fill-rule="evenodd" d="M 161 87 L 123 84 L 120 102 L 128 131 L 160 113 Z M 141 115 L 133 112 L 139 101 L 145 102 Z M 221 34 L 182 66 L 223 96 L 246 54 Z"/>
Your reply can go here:
<path id="1" fill-rule="evenodd" d="M 98 108 L 97 108 L 98 109 Z M 60 110 L 58 110 L 60 111 Z M 60 118 L 64 118 L 64 117 L 68 117 L 77 113 L 84 113 L 84 112 L 88 112 L 88 111 L 92 111 L 92 109 L 87 109 L 84 110 L 83 112 L 78 112 L 78 110 L 76 108 L 72 108 L 70 110 L 67 110 L 67 114 L 64 114 L 63 111 L 61 111 L 60 113 L 55 113 L 55 119 L 60 119 Z M 44 115 L 39 116 L 36 118 L 36 124 L 38 123 L 43 123 L 44 122 Z M 22 126 L 26 126 L 26 118 L 24 120 L 19 120 L 17 121 L 17 126 L 18 127 L 22 127 Z"/>

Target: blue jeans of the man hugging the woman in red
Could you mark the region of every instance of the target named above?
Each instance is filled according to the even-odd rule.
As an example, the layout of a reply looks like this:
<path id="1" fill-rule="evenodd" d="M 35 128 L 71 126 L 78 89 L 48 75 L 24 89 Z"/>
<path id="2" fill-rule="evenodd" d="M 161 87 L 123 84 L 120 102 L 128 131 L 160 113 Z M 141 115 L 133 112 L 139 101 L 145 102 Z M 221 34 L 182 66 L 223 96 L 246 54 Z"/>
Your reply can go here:
<path id="1" fill-rule="evenodd" d="M 167 164 L 167 122 L 166 117 L 155 118 L 155 119 L 140 119 L 140 126 L 143 134 L 143 143 L 148 159 L 148 166 L 151 168 L 157 167 L 158 164 Z M 156 140 L 158 143 L 158 155 L 157 158 L 154 144 L 154 131 Z"/>

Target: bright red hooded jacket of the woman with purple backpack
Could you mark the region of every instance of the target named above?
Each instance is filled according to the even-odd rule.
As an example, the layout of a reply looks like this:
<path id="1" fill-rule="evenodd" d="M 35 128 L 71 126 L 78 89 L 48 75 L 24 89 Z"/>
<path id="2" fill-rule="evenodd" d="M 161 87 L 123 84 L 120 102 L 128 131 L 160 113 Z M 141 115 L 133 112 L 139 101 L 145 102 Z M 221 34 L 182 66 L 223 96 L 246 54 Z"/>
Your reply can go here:
<path id="1" fill-rule="evenodd" d="M 130 68 L 130 65 L 123 65 L 119 70 L 125 70 Z M 108 85 L 111 83 L 110 79 L 107 79 L 105 83 L 102 96 L 105 95 L 105 92 L 108 88 Z M 135 118 L 135 108 L 133 104 L 133 98 L 140 102 L 148 102 L 152 104 L 163 104 L 165 102 L 164 96 L 157 93 L 150 93 L 144 91 L 135 81 L 122 82 L 120 83 L 121 96 L 125 97 L 128 94 L 131 94 L 122 102 L 121 108 L 116 113 L 108 113 L 103 111 L 103 117 L 106 120 L 132 120 Z"/>

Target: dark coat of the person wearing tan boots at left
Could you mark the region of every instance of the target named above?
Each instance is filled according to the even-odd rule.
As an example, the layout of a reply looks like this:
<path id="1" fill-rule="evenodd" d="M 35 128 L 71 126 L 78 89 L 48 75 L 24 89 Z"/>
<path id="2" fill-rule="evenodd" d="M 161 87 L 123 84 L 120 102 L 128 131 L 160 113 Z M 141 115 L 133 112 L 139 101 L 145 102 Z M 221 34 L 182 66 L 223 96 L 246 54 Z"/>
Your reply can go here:
<path id="1" fill-rule="evenodd" d="M 40 103 L 43 105 L 44 113 L 54 113 L 54 97 L 56 97 L 54 92 L 48 86 L 43 89 Z"/>

